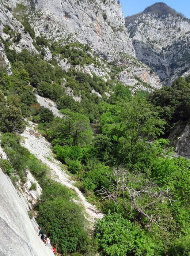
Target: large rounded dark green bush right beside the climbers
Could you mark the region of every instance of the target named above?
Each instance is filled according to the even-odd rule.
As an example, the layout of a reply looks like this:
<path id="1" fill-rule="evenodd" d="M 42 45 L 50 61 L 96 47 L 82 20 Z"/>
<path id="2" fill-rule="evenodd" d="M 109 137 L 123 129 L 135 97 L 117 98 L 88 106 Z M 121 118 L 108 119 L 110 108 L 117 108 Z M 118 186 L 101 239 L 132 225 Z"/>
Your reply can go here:
<path id="1" fill-rule="evenodd" d="M 84 229 L 83 210 L 76 203 L 61 197 L 39 203 L 37 222 L 47 231 L 52 244 L 57 244 L 60 253 L 86 252 L 91 239 Z"/>

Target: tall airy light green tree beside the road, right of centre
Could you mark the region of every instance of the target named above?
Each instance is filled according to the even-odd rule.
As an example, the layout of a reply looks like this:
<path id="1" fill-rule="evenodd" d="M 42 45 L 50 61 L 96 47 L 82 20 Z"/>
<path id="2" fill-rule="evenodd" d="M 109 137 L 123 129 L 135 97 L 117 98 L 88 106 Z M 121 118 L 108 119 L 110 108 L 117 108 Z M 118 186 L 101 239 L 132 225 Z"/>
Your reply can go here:
<path id="1" fill-rule="evenodd" d="M 163 134 L 164 120 L 145 99 L 133 97 L 117 102 L 115 113 L 102 114 L 100 128 L 114 143 L 112 154 L 118 164 L 145 168 L 146 140 Z"/>

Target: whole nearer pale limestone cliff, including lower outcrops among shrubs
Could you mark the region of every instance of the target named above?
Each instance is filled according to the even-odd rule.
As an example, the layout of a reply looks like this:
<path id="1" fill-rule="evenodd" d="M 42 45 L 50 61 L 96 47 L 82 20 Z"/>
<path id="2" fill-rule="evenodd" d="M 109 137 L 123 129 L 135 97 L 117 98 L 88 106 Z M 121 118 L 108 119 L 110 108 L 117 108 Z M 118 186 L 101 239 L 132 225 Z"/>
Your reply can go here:
<path id="1" fill-rule="evenodd" d="M 0 9 L 0 35 L 4 41 L 9 40 L 9 49 L 17 53 L 27 49 L 39 54 L 39 48 L 35 48 L 35 37 L 41 35 L 47 38 L 50 44 L 57 42 L 59 45 L 68 45 L 79 42 L 89 45 L 95 54 L 99 54 L 97 58 L 101 63 L 98 67 L 93 64 L 84 68 L 77 67 L 83 72 L 91 76 L 94 73 L 107 81 L 110 79 L 111 68 L 104 63 L 106 60 L 108 63 L 113 62 L 124 67 L 124 73 L 117 74 L 116 78 L 121 78 L 125 85 L 134 87 L 134 90 L 161 87 L 158 76 L 152 75 L 151 68 L 136 59 L 132 41 L 125 27 L 121 4 L 116 0 L 7 0 L 4 4 Z M 35 31 L 33 39 L 21 24 L 23 15 L 26 15 Z M 10 27 L 8 33 L 4 30 L 7 26 Z M 43 52 L 44 59 L 51 61 L 52 52 L 47 46 L 43 48 Z M 60 67 L 69 70 L 71 64 L 68 59 L 62 59 L 60 54 L 53 57 Z M 136 76 L 147 83 L 148 87 L 139 83 Z"/>

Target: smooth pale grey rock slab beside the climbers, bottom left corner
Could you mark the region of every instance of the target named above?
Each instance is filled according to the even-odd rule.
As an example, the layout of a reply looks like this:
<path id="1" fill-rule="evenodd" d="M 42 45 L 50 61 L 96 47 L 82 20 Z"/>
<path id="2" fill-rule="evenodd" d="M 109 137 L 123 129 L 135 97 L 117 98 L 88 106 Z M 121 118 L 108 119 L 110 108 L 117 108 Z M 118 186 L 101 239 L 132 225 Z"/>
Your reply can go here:
<path id="1" fill-rule="evenodd" d="M 0 169 L 0 255 L 53 256 L 40 240 L 22 197 Z"/>

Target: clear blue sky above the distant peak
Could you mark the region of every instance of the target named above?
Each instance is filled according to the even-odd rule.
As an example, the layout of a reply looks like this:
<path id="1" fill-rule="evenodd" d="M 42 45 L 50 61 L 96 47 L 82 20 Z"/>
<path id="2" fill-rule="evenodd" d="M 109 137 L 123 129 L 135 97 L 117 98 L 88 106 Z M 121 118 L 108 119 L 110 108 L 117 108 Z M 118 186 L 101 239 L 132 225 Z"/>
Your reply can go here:
<path id="1" fill-rule="evenodd" d="M 190 19 L 190 0 L 152 0 L 152 4 L 157 2 L 167 4 L 177 12 L 184 14 L 186 18 Z M 126 17 L 144 11 L 146 7 L 150 6 L 151 0 L 120 0 L 120 3 L 124 17 Z"/>

